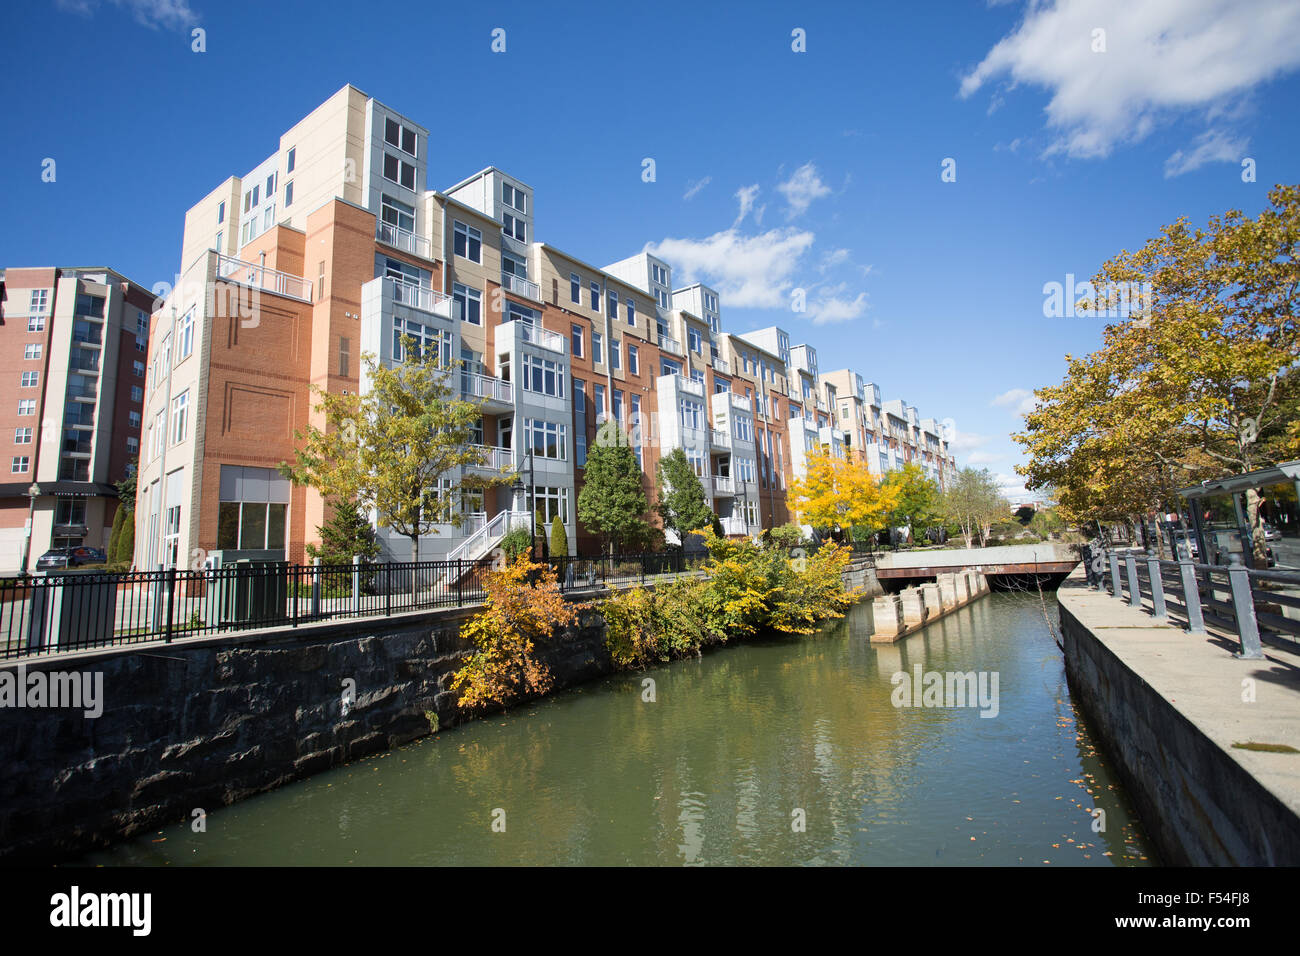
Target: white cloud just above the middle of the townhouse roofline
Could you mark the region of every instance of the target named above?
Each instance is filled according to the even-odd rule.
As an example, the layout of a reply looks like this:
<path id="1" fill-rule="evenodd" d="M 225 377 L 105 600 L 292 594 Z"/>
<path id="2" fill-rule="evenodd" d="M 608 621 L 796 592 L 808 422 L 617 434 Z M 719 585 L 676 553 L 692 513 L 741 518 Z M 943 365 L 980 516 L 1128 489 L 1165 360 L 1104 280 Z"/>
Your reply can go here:
<path id="1" fill-rule="evenodd" d="M 685 282 L 707 281 L 728 307 L 786 308 L 794 272 L 812 239 L 812 233 L 794 228 L 741 235 L 732 226 L 703 239 L 666 238 L 646 251 L 672 263 Z"/>

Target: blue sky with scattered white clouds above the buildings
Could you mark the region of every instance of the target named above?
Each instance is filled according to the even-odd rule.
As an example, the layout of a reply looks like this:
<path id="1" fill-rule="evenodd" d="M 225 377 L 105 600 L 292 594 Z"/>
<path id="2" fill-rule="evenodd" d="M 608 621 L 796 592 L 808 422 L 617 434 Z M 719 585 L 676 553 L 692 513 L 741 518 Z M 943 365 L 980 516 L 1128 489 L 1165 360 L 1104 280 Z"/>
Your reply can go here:
<path id="1" fill-rule="evenodd" d="M 433 130 L 432 185 L 498 165 L 536 189 L 538 239 L 595 264 L 650 245 L 723 293 L 724 328 L 783 325 L 952 419 L 958 462 L 1009 489 L 1022 402 L 1100 342 L 1097 319 L 1044 316 L 1044 284 L 1300 177 L 1300 4 L 1278 0 L 52 0 L 6 21 L 0 264 L 170 280 L 185 209 L 351 82 Z"/>

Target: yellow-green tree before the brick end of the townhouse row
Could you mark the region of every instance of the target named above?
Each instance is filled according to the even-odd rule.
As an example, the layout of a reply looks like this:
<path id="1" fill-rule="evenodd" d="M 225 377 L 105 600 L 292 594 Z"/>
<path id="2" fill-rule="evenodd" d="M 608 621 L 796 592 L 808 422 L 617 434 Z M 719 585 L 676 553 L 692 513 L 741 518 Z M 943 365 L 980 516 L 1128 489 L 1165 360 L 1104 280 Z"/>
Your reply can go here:
<path id="1" fill-rule="evenodd" d="M 373 510 L 380 527 L 410 538 L 411 559 L 419 561 L 421 535 L 437 533 L 438 524 L 460 525 L 454 502 L 462 489 L 504 484 L 514 472 L 447 477 L 484 462 L 472 431 L 481 406 L 454 397 L 459 362 L 443 367 L 437 349 L 421 352 L 410 337 L 403 338 L 403 352 L 393 367 L 363 355 L 369 380 L 364 394 L 313 385 L 325 428 L 298 432 L 296 460 L 281 463 L 281 472 L 329 498 Z"/>

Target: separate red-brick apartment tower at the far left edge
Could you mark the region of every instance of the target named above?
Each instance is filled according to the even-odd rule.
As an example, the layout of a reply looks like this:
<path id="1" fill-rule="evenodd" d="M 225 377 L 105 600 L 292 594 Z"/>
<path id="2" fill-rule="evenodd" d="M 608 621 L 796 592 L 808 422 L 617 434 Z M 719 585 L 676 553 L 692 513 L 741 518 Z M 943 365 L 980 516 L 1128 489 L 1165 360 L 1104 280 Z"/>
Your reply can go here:
<path id="1" fill-rule="evenodd" d="M 6 269 L 0 321 L 0 570 L 107 549 L 139 455 L 153 295 L 113 269 Z M 3 467 L 3 466 L 0 466 Z"/>

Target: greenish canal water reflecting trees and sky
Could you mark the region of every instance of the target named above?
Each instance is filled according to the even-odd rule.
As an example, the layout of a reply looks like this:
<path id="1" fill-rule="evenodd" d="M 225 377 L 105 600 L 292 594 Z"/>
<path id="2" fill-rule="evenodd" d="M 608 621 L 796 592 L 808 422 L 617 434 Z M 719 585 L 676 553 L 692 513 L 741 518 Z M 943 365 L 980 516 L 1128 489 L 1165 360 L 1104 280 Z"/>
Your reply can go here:
<path id="1" fill-rule="evenodd" d="M 893 645 L 870 632 L 859 605 L 814 636 L 616 675 L 86 862 L 1154 862 L 1036 593 L 993 593 Z M 996 715 L 896 706 L 890 678 L 911 687 L 918 665 L 996 674 Z"/>

